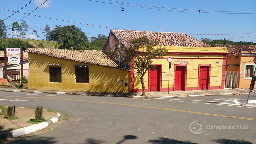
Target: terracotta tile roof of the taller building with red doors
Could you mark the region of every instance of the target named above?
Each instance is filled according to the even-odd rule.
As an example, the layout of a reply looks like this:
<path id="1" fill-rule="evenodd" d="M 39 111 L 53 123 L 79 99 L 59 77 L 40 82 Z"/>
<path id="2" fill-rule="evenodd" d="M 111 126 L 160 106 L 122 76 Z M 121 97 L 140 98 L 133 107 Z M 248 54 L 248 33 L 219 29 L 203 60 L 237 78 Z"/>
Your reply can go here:
<path id="1" fill-rule="evenodd" d="M 132 30 L 114 30 L 111 31 L 116 38 L 121 37 L 124 47 L 130 46 L 130 40 L 147 36 L 149 40 L 159 41 L 161 46 L 191 46 L 191 47 L 211 47 L 185 33 L 173 32 L 151 32 L 151 31 L 132 31 Z"/>

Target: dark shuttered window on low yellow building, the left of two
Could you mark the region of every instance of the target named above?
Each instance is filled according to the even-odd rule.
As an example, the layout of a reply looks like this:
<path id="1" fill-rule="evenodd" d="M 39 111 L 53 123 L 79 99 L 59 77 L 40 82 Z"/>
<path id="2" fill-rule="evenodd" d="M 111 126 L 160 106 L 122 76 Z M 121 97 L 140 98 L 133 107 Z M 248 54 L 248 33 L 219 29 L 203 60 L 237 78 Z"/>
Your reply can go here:
<path id="1" fill-rule="evenodd" d="M 49 67 L 50 82 L 61 83 L 61 67 Z"/>

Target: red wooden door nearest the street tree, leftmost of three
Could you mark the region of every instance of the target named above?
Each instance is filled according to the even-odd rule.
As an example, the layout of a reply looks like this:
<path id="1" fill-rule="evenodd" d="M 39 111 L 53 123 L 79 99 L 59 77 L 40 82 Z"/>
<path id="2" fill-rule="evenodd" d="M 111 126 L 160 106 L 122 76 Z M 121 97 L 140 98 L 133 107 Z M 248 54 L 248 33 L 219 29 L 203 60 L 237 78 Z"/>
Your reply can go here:
<path id="1" fill-rule="evenodd" d="M 155 70 L 150 70 L 150 91 L 160 91 L 160 67 L 156 66 Z"/>

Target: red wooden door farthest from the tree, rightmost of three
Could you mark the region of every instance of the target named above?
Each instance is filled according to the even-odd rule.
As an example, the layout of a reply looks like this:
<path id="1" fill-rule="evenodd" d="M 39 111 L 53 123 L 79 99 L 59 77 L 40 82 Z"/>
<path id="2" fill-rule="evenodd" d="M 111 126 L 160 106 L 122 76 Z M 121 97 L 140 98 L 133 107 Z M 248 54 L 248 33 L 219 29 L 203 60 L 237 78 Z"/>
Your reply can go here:
<path id="1" fill-rule="evenodd" d="M 200 75 L 199 75 L 199 89 L 204 90 L 208 87 L 208 72 L 209 66 L 200 66 Z"/>

